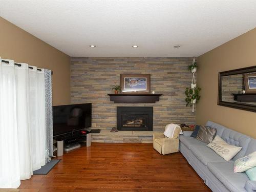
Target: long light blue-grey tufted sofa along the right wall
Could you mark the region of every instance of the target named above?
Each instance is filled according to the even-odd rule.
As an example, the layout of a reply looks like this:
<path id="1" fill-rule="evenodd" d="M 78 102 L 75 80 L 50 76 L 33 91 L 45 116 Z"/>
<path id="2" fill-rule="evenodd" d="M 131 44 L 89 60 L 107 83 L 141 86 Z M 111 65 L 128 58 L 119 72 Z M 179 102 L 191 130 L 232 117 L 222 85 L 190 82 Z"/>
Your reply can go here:
<path id="1" fill-rule="evenodd" d="M 242 150 L 226 161 L 205 143 L 190 137 L 192 132 L 184 131 L 179 137 L 179 150 L 187 162 L 214 192 L 256 191 L 256 181 L 250 181 L 245 173 L 233 173 L 234 161 L 256 151 L 256 140 L 211 121 L 206 126 L 216 128 L 217 135 L 231 145 L 242 147 Z"/>

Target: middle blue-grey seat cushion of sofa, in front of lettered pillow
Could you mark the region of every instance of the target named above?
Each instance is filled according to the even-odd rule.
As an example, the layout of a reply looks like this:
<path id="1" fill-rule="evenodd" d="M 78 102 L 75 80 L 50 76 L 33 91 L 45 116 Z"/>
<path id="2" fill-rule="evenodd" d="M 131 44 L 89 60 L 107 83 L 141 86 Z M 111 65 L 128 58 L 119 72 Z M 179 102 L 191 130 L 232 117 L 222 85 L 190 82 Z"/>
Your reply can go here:
<path id="1" fill-rule="evenodd" d="M 206 145 L 191 146 L 191 152 L 206 166 L 209 162 L 226 162 L 225 159 L 216 154 Z"/>

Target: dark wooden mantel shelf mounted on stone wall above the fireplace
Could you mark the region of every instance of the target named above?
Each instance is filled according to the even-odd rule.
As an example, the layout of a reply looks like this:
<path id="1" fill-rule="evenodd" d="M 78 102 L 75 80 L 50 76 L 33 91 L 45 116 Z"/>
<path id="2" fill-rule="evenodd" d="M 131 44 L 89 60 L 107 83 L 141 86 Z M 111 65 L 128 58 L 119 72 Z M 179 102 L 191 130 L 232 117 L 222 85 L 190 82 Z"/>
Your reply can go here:
<path id="1" fill-rule="evenodd" d="M 114 103 L 155 103 L 162 94 L 108 94 Z"/>

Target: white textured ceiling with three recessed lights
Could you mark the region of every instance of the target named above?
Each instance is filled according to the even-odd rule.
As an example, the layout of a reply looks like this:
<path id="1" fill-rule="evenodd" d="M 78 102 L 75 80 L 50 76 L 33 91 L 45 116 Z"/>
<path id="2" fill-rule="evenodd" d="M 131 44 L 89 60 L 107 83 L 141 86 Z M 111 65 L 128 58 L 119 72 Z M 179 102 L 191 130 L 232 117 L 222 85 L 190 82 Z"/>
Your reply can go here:
<path id="1" fill-rule="evenodd" d="M 254 0 L 0 4 L 2 17 L 70 56 L 199 56 L 256 27 Z"/>

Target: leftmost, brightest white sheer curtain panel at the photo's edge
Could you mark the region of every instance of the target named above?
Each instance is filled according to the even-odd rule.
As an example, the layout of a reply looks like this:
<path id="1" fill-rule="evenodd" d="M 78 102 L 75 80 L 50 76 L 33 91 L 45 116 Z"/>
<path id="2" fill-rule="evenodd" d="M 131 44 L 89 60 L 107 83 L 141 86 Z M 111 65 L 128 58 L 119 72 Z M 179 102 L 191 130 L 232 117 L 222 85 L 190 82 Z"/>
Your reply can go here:
<path id="1" fill-rule="evenodd" d="M 1 61 L 1 58 L 0 58 Z M 20 185 L 14 61 L 0 65 L 0 188 Z"/>

